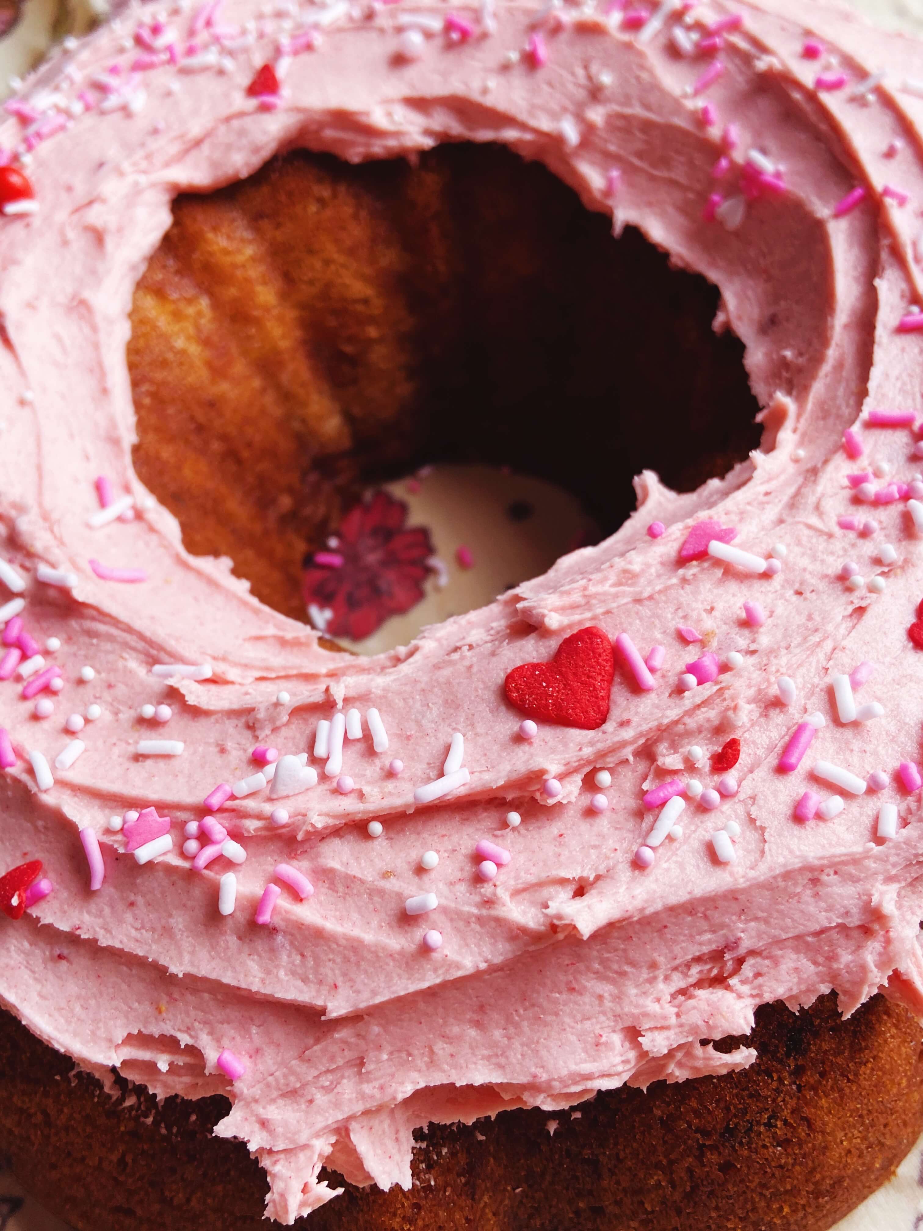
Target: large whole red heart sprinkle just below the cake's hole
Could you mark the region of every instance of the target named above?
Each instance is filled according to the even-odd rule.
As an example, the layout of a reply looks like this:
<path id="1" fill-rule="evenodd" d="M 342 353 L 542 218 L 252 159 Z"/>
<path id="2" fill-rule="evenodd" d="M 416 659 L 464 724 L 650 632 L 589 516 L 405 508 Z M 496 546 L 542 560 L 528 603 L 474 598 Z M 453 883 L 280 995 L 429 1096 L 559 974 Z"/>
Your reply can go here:
<path id="1" fill-rule="evenodd" d="M 505 682 L 511 705 L 529 718 L 594 731 L 609 716 L 615 657 L 601 628 L 566 636 L 550 662 L 524 662 Z"/>

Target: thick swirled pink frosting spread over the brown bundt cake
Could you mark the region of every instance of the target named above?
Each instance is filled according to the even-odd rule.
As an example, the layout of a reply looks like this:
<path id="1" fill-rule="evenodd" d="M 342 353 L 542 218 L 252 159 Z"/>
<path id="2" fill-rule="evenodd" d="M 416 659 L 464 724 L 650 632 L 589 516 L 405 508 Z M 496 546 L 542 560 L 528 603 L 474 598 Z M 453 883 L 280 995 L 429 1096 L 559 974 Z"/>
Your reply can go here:
<path id="1" fill-rule="evenodd" d="M 161 1094 L 224 1091 L 233 1108 L 218 1133 L 261 1160 L 268 1211 L 283 1222 L 331 1195 L 318 1182 L 324 1163 L 358 1183 L 407 1185 L 412 1131 L 430 1120 L 560 1108 L 625 1082 L 747 1065 L 749 1050 L 700 1040 L 746 1033 L 768 1001 L 804 1004 L 836 987 L 849 1012 L 885 990 L 923 1012 L 923 826 L 919 795 L 896 778 L 898 762 L 921 757 L 921 651 L 907 628 L 923 511 L 881 505 L 868 539 L 838 526 L 857 500 L 844 431 L 871 468 L 912 481 L 912 433 L 868 426 L 864 412 L 923 409 L 923 342 L 897 329 L 922 294 L 912 247 L 923 101 L 896 87 L 919 76 L 919 48 L 815 4 L 811 37 L 848 79 L 817 94 L 794 0 L 710 6 L 688 28 L 733 12 L 743 23 L 705 70 L 677 53 L 676 14 L 624 31 L 618 10 L 565 6 L 537 32 L 530 7 L 454 10 L 470 36 L 441 32 L 446 10 L 431 2 L 372 16 L 335 2 L 283 18 L 225 0 L 218 47 L 213 10 L 176 7 L 166 33 L 151 33 L 148 9 L 129 7 L 27 82 L 23 101 L 57 107 L 53 123 L 28 135 L 15 117 L 0 126 L 0 146 L 32 149 L 39 207 L 0 218 L 0 559 L 25 581 L 30 635 L 60 638 L 49 657 L 64 672 L 60 716 L 44 723 L 16 678 L 0 686 L 16 752 L 0 776 L 0 869 L 41 858 L 54 883 L 20 921 L 0 920 L 0 998 L 103 1077 L 114 1065 Z M 292 59 L 267 107 L 246 90 L 279 47 Z M 882 65 L 875 101 L 858 103 L 849 82 Z M 228 561 L 191 558 L 133 473 L 133 287 L 178 191 L 226 183 L 299 144 L 361 160 L 458 139 L 543 160 L 617 230 L 640 227 L 721 288 L 721 319 L 746 343 L 764 407 L 762 451 L 690 495 L 646 471 L 637 515 L 601 545 L 405 649 L 329 654 L 257 603 Z M 759 165 L 743 175 L 754 149 Z M 885 167 L 913 208 L 881 206 Z M 834 217 L 857 186 L 865 198 Z M 108 510 L 134 500 L 132 519 L 90 524 L 98 475 L 112 484 Z M 736 528 L 721 535 L 733 542 L 683 563 L 703 521 Z M 757 571 L 770 551 L 775 564 Z M 858 588 L 841 576 L 850 556 Z M 97 558 L 146 580 L 107 580 Z M 41 581 L 41 566 L 64 576 Z M 868 586 L 879 575 L 882 593 Z M 11 597 L 0 580 L 0 603 Z M 745 602 L 759 603 L 761 627 L 742 619 Z M 685 623 L 720 666 L 689 691 L 677 687 L 684 654 L 672 635 Z M 521 739 L 506 672 L 550 659 L 591 624 L 639 655 L 653 641 L 672 649 L 650 688 L 617 673 L 598 730 L 539 724 Z M 884 714 L 845 721 L 831 681 L 864 661 L 877 667 L 857 705 L 880 702 Z M 153 675 L 158 664 L 210 672 Z M 795 684 L 790 704 L 781 676 Z M 165 725 L 138 716 L 162 702 Z M 63 716 L 90 705 L 101 713 L 73 741 Z M 362 736 L 341 758 L 313 757 L 319 721 L 353 708 Z M 380 735 L 373 745 L 372 710 L 386 751 Z M 791 734 L 815 713 L 823 725 L 804 761 L 780 773 Z M 337 723 L 335 745 L 341 734 Z M 741 741 L 738 790 L 721 799 L 709 758 L 730 735 Z M 154 740 L 176 755 L 138 751 Z M 278 783 L 255 778 L 256 742 L 279 750 Z M 460 764 L 446 768 L 447 756 Z M 823 803 L 818 817 L 796 817 L 809 783 L 823 800 L 838 789 L 811 776 L 818 760 L 857 776 L 853 787 L 884 772 L 887 785 L 845 790 L 831 820 L 818 819 Z M 602 814 L 591 806 L 601 769 Z M 343 774 L 348 794 L 336 787 Z M 692 777 L 720 810 L 687 792 L 645 811 L 646 792 Z M 442 793 L 415 801 L 438 779 Z M 219 783 L 238 787 L 222 803 L 230 838 L 203 870 L 181 841 L 139 864 L 107 825 L 156 808 L 176 836 Z M 882 800 L 900 810 L 891 840 L 875 837 Z M 713 841 L 730 821 L 733 841 Z M 95 892 L 90 832 L 105 869 Z M 475 853 L 485 840 L 509 852 L 489 883 Z M 421 867 L 426 851 L 437 867 Z M 314 895 L 267 896 L 281 864 Z M 436 948 L 423 939 L 437 934 Z"/>

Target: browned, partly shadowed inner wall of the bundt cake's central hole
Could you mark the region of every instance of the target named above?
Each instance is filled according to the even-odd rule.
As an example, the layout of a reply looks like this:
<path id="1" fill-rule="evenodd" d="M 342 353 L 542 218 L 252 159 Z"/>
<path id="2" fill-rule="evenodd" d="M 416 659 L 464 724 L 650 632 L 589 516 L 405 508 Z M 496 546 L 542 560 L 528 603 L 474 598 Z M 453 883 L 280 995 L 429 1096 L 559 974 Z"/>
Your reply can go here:
<path id="1" fill-rule="evenodd" d="M 175 202 L 134 294 L 135 469 L 190 551 L 306 619 L 305 554 L 342 555 L 345 515 L 420 467 L 495 468 L 498 533 L 534 512 L 514 476 L 546 480 L 594 537 L 645 468 L 679 491 L 730 470 L 759 443 L 758 405 L 717 309 L 704 278 L 501 146 L 290 153 Z"/>

